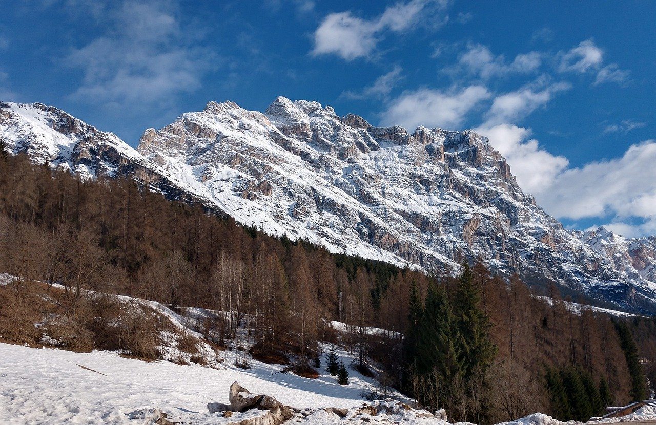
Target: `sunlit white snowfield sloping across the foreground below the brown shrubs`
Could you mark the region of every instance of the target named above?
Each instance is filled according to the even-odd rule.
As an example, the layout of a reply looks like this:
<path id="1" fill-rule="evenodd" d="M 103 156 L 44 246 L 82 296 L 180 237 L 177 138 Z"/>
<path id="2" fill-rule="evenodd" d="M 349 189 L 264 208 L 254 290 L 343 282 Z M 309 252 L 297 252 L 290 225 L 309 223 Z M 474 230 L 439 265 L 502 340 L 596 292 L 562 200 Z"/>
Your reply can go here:
<path id="1" fill-rule="evenodd" d="M 205 405 L 227 403 L 234 381 L 298 408 L 354 407 L 363 403 L 359 394 L 368 388 L 355 371 L 345 387 L 325 369 L 323 376 L 311 380 L 276 373 L 281 366 L 256 361 L 253 369 L 244 371 L 232 369 L 226 359 L 228 369 L 216 370 L 125 359 L 114 352 L 85 354 L 10 344 L 0 344 L 0 359 L 0 423 L 10 424 L 127 424 L 135 423 L 131 417 L 140 410 L 153 408 L 207 419 L 211 417 Z M 143 418 L 134 420 L 143 423 Z"/>

